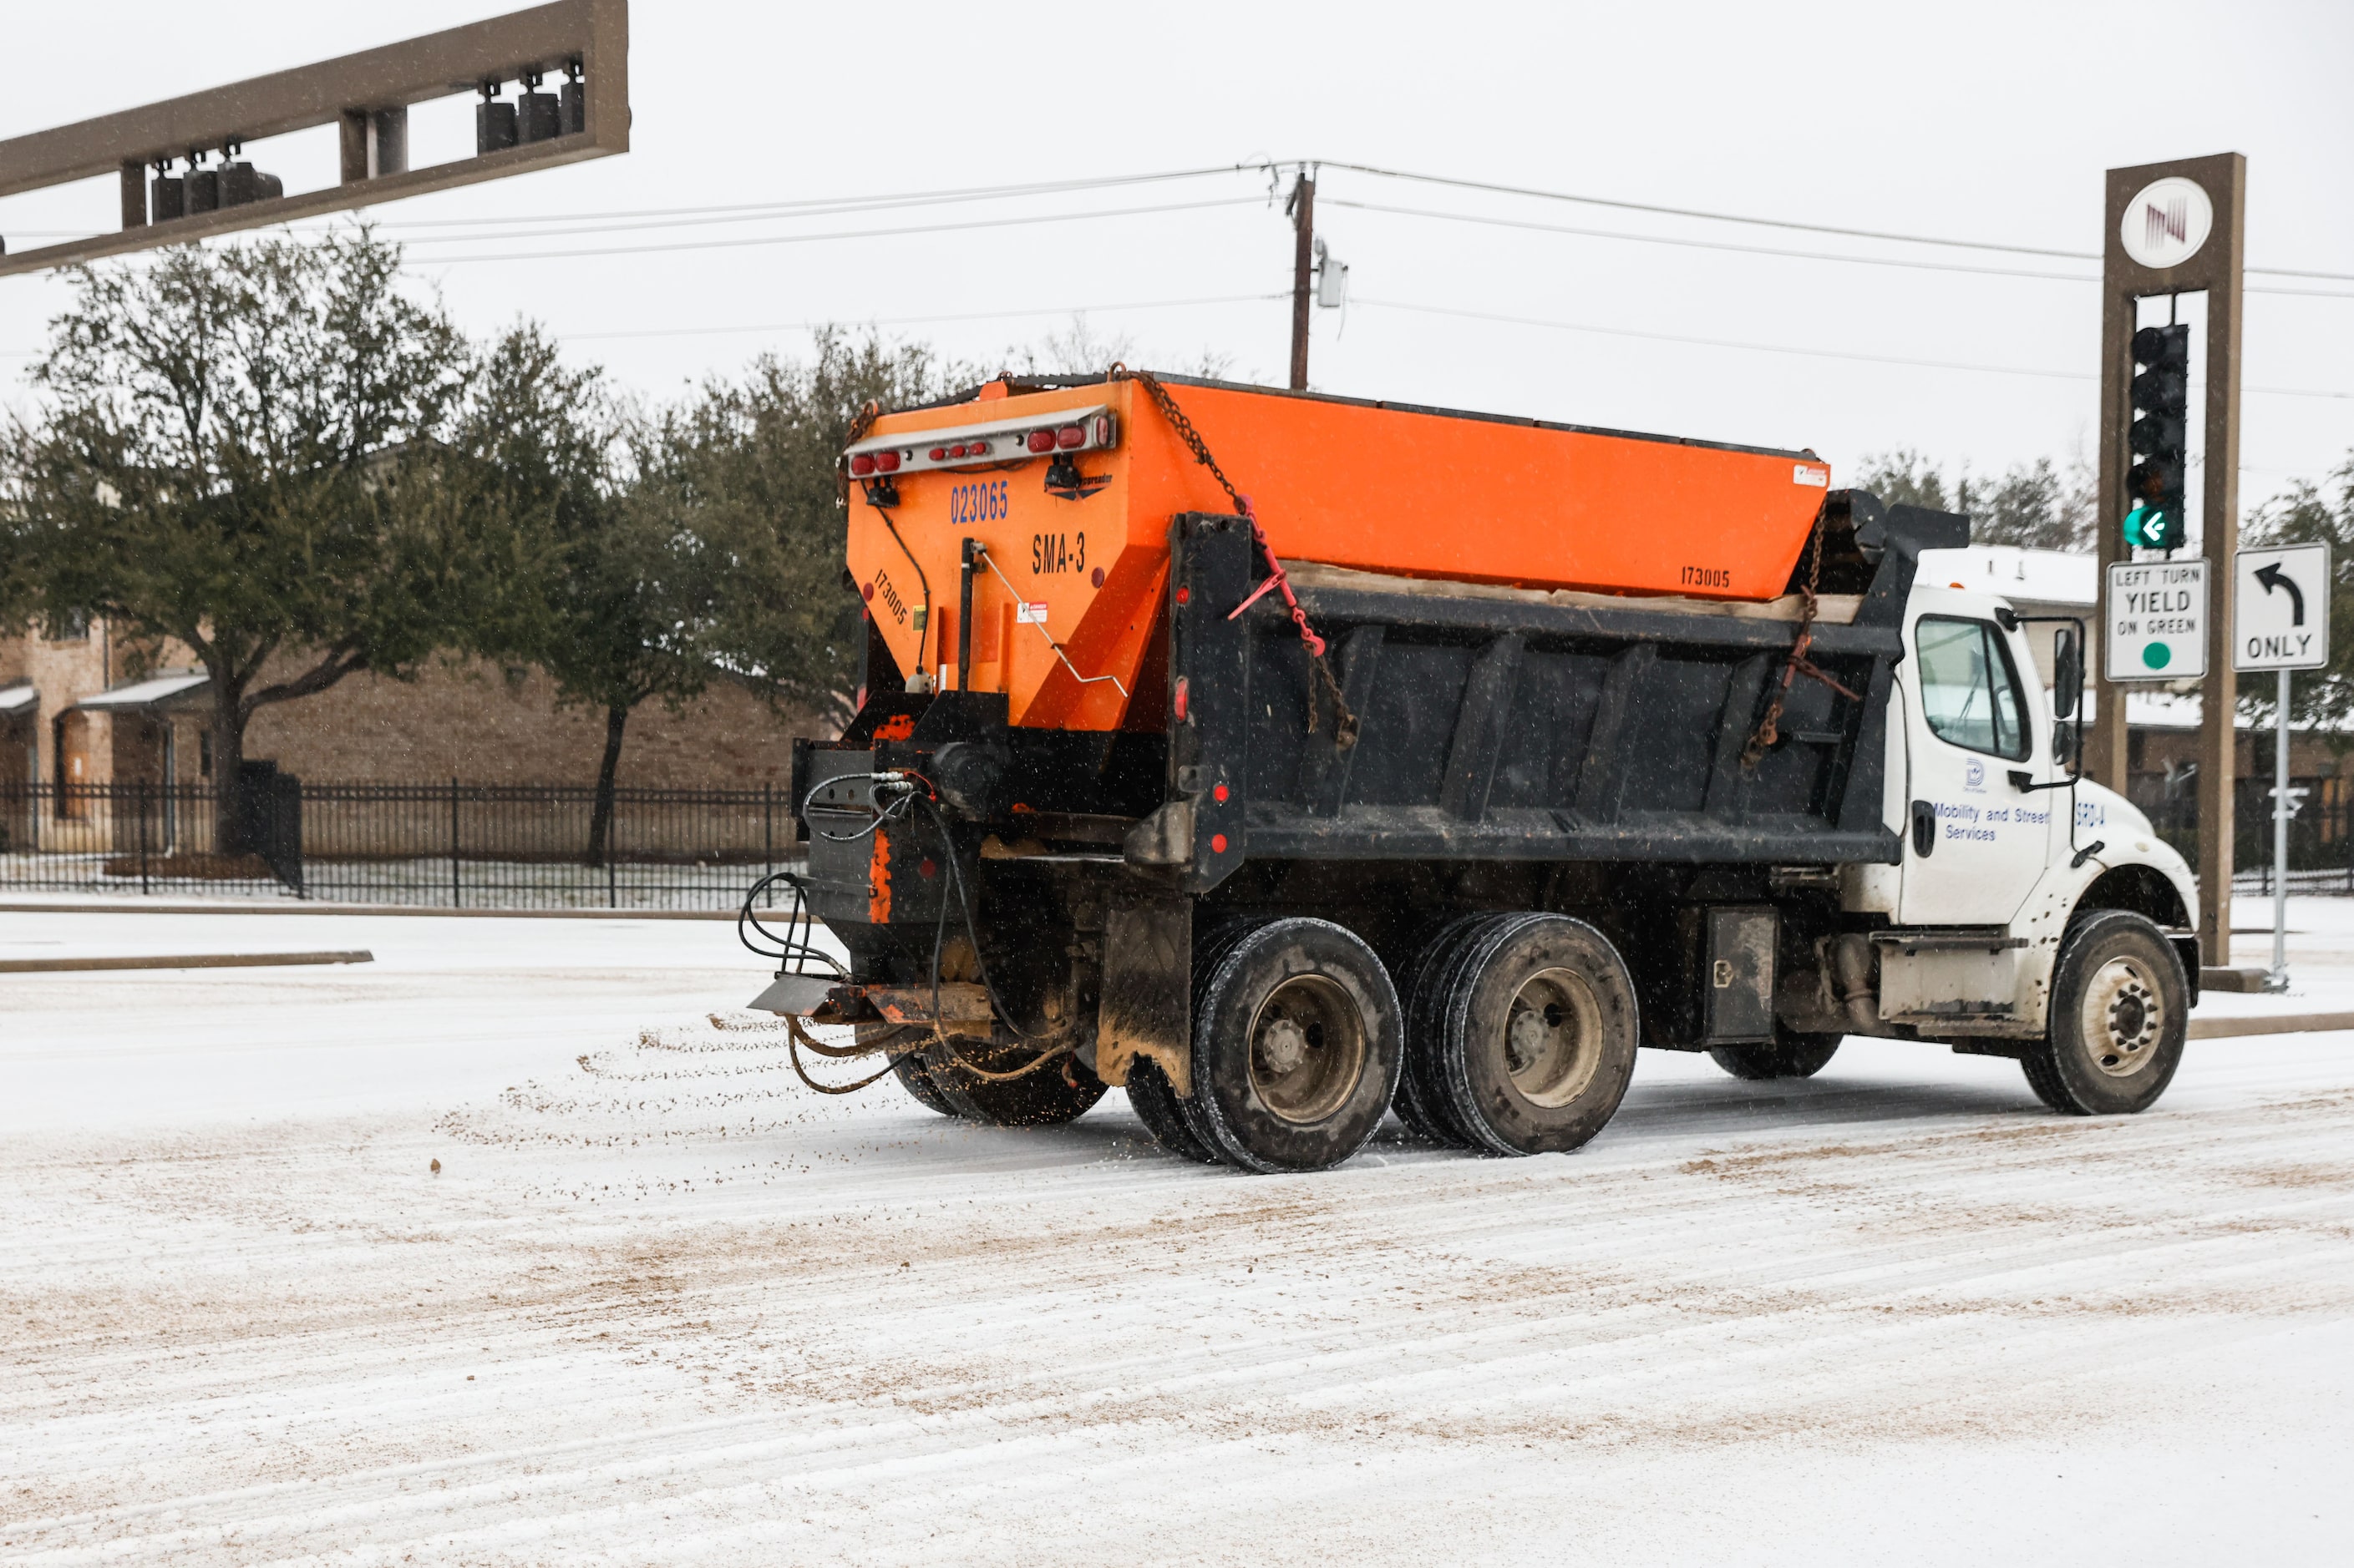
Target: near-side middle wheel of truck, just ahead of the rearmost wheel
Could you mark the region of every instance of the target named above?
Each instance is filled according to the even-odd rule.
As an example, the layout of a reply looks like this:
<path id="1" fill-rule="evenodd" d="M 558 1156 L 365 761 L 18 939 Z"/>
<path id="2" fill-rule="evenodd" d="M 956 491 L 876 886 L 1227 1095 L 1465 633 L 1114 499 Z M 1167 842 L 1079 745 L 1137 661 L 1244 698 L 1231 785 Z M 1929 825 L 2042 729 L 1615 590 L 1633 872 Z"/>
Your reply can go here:
<path id="1" fill-rule="evenodd" d="M 1488 1154 L 1563 1154 L 1617 1111 L 1641 1034 L 1634 977 L 1584 921 L 1511 913 L 1448 965 L 1424 1083 Z"/>

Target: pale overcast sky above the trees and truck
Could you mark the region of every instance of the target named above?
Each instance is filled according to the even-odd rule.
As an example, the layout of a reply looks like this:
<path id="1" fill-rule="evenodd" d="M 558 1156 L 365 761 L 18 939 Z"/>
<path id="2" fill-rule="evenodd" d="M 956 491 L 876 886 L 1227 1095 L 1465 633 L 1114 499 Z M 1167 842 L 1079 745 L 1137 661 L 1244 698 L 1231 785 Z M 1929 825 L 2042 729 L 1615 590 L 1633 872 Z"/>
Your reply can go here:
<path id="1" fill-rule="evenodd" d="M 499 9 L 513 7 L 247 0 L 191 12 L 14 0 L 0 137 Z M 2354 5 L 2342 0 L 640 0 L 633 12 L 626 158 L 374 217 L 412 242 L 412 268 L 468 327 L 537 315 L 579 358 L 650 396 L 732 372 L 758 351 L 803 353 L 798 323 L 885 323 L 996 363 L 1066 327 L 1076 308 L 1102 339 L 1128 337 L 1144 363 L 1226 356 L 1233 374 L 1278 381 L 1290 315 L 1274 294 L 1290 285 L 1290 228 L 1264 200 L 1266 177 L 1241 172 L 927 210 L 523 235 L 645 224 L 605 217 L 645 210 L 1323 158 L 2097 254 L 2102 170 L 2239 151 L 2250 172 L 2250 264 L 2354 275 Z M 412 137 L 414 162 L 471 151 L 471 104 L 414 111 Z M 250 153 L 290 188 L 334 177 L 325 129 Z M 0 235 L 24 250 L 45 242 L 42 231 L 108 228 L 113 202 L 113 181 L 0 200 Z M 1161 210 L 770 242 L 1137 207 Z M 1911 445 L 1989 471 L 2067 457 L 2093 438 L 2097 290 L 2072 278 L 2095 275 L 2095 261 L 1664 219 L 1337 170 L 1321 181 L 1318 212 L 1354 297 L 1346 311 L 1316 315 L 1314 384 L 1325 391 L 1815 447 L 1834 469 Z M 513 231 L 445 226 L 452 219 L 506 219 Z M 711 240 L 763 242 L 544 257 Z M 539 259 L 492 259 L 523 254 Z M 2250 275 L 2250 287 L 2335 294 L 2248 297 L 2243 494 L 2253 501 L 2354 447 L 2354 283 Z M 47 278 L 0 278 L 0 381 L 12 400 L 26 351 L 61 304 Z"/>

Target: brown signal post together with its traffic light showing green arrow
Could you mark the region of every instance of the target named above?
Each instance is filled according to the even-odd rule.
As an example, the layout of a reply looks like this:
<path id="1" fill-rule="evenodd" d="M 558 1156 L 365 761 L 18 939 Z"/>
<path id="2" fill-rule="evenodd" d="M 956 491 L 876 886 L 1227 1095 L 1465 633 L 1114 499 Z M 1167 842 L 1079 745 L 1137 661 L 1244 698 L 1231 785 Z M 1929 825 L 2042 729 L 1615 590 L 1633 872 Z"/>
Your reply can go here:
<path id="1" fill-rule="evenodd" d="M 2107 567 L 2175 560 L 2192 544 L 2220 582 L 2239 551 L 2239 344 L 2248 160 L 2239 153 L 2109 170 L 2102 202 L 2100 306 L 2100 560 Z M 2182 323 L 2201 297 L 2203 330 Z M 2163 301 L 2144 323 L 2144 301 Z M 2156 306 L 2152 306 L 2156 311 Z M 2203 384 L 2199 410 L 2192 391 Z M 2192 469 L 2199 469 L 2196 490 Z M 2196 499 L 2196 506 L 2192 504 Z M 2137 574 L 2126 574 L 2137 577 Z M 2217 593 L 2217 600 L 2225 596 Z M 2232 775 L 2236 772 L 2232 605 L 2215 603 L 2201 638 L 2199 680 L 2199 942 L 2206 963 L 2229 963 Z M 2104 612 L 2112 622 L 2116 605 Z M 2177 664 L 2185 669 L 2185 664 Z M 2161 671 L 2100 671 L 2086 772 L 2126 793 L 2126 687 Z"/>

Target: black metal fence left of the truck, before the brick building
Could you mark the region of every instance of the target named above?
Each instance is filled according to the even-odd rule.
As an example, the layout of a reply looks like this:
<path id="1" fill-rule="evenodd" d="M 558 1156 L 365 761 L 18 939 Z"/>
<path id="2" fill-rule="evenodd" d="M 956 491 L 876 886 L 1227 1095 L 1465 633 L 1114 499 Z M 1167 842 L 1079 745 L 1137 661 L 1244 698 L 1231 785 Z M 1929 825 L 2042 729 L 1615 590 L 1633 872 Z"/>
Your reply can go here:
<path id="1" fill-rule="evenodd" d="M 445 909 L 734 909 L 803 859 L 786 791 L 252 779 L 217 848 L 212 784 L 0 784 L 0 895 L 301 897 Z"/>

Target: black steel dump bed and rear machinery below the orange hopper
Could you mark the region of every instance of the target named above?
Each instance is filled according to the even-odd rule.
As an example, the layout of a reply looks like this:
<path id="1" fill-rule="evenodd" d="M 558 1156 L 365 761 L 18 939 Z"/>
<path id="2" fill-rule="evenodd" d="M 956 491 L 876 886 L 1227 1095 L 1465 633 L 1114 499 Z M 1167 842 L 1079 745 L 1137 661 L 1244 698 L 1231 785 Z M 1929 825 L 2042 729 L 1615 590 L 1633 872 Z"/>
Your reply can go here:
<path id="1" fill-rule="evenodd" d="M 918 895 L 897 918 L 937 918 L 927 878 L 892 871 L 939 852 L 939 822 L 975 845 L 993 833 L 1043 857 L 1123 862 L 1191 895 L 1269 859 L 1895 862 L 1881 800 L 1904 603 L 1919 551 L 1963 544 L 1968 525 L 1834 492 L 1822 539 L 1822 610 L 1796 671 L 1791 605 L 1725 612 L 1304 567 L 1297 593 L 1330 640 L 1335 702 L 1278 596 L 1233 619 L 1266 574 L 1250 525 L 1182 516 L 1168 659 L 1149 662 L 1156 690 L 1137 692 L 1158 727 L 1008 727 L 998 695 L 906 695 L 895 669 L 869 669 L 876 697 L 850 732 L 796 749 L 796 800 L 819 829 L 817 913 L 838 930 L 892 918 L 887 881 L 899 899 Z M 869 657 L 887 659 L 873 645 Z M 1777 695 L 1775 744 L 1744 760 Z M 930 779 L 942 810 L 866 833 L 864 777 L 895 768 Z"/>

